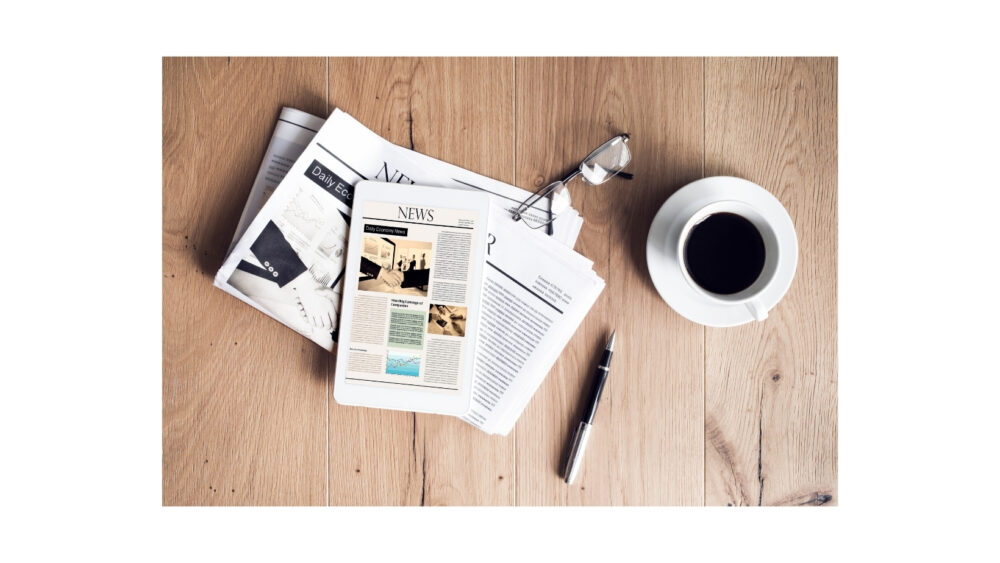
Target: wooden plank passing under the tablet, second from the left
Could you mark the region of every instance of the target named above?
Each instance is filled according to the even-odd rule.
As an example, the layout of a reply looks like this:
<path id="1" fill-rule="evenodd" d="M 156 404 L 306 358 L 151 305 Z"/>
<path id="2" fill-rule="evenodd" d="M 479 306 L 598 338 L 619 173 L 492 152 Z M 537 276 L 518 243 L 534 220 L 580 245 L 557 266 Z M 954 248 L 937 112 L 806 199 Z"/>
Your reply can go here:
<path id="1" fill-rule="evenodd" d="M 399 145 L 513 179 L 511 59 L 330 59 L 330 108 Z M 374 175 L 374 174 L 373 174 Z M 514 437 L 330 401 L 332 504 L 510 505 Z"/>

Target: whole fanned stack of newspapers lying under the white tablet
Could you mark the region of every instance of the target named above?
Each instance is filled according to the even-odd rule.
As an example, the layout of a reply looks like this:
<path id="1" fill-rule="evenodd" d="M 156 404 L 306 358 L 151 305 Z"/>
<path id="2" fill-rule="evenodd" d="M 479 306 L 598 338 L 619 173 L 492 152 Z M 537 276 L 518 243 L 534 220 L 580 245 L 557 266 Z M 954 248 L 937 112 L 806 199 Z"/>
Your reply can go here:
<path id="1" fill-rule="evenodd" d="M 394 145 L 339 109 L 324 121 L 284 108 L 215 285 L 333 351 L 362 180 L 490 196 L 472 408 L 462 419 L 508 434 L 604 289 L 573 250 L 576 210 L 560 213 L 550 236 L 512 219 L 530 192 Z M 412 277 L 420 259 L 414 252 Z"/>

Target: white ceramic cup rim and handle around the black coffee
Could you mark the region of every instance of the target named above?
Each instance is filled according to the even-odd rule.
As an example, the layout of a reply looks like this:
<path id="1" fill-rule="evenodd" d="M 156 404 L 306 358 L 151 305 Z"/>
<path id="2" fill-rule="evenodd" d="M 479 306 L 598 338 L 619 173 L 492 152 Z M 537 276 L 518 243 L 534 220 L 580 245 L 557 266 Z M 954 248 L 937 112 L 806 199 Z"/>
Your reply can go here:
<path id="1" fill-rule="evenodd" d="M 733 213 L 750 221 L 764 241 L 764 268 L 761 270 L 760 275 L 757 276 L 757 280 L 750 287 L 731 295 L 713 293 L 698 285 L 691 277 L 691 273 L 688 272 L 684 256 L 684 246 L 687 244 L 691 230 L 710 215 L 716 213 Z M 742 201 L 726 200 L 715 201 L 696 209 L 684 223 L 684 227 L 681 228 L 681 235 L 677 241 L 677 257 L 680 261 L 681 273 L 684 275 L 684 279 L 706 300 L 723 305 L 743 304 L 753 315 L 754 319 L 762 321 L 767 318 L 767 306 L 761 301 L 760 296 L 774 281 L 775 274 L 778 271 L 778 261 L 781 258 L 781 247 L 778 244 L 778 237 L 774 232 L 774 228 L 752 205 Z"/>

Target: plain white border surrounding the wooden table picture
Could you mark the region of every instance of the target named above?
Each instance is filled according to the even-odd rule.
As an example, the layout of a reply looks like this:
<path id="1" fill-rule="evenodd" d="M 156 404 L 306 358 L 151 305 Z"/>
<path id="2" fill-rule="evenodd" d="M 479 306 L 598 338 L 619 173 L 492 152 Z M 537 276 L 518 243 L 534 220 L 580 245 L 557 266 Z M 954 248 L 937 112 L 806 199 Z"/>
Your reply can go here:
<path id="1" fill-rule="evenodd" d="M 12 241 L 6 263 L 25 275 L 5 286 L 14 298 L 4 320 L 15 333 L 0 393 L 8 559 L 843 561 L 993 552 L 1000 304 L 989 283 L 1000 278 L 996 262 L 976 259 L 995 253 L 1000 208 L 988 4 L 364 6 L 11 9 L 17 25 L 5 39 L 21 48 L 5 60 L 13 85 L 0 92 L 11 110 L 0 228 Z M 185 54 L 839 56 L 840 506 L 161 508 L 160 57 Z M 253 93 L 234 92 L 242 95 Z M 489 115 L 484 108 L 484 122 Z M 74 173 L 65 182 L 40 173 L 56 141 L 66 150 L 55 162 Z M 113 174 L 98 173 L 96 155 Z M 246 162 L 256 166 L 259 156 Z M 23 233 L 30 244 L 18 242 Z M 60 272 L 79 274 L 71 282 L 53 274 L 50 249 L 64 251 Z M 519 428 L 508 440 L 542 432 Z"/>

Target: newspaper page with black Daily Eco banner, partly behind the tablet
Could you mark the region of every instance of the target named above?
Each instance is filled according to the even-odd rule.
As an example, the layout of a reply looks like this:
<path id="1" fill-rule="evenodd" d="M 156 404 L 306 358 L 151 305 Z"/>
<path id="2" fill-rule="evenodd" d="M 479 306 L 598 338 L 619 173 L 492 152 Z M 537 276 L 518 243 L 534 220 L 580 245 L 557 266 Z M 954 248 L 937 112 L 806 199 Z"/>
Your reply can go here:
<path id="1" fill-rule="evenodd" d="M 332 351 L 353 186 L 361 180 L 474 190 L 506 209 L 530 196 L 394 145 L 338 109 L 250 222 L 215 285 Z M 569 209 L 551 238 L 571 248 L 581 225 Z"/>

